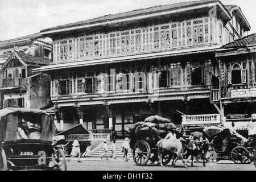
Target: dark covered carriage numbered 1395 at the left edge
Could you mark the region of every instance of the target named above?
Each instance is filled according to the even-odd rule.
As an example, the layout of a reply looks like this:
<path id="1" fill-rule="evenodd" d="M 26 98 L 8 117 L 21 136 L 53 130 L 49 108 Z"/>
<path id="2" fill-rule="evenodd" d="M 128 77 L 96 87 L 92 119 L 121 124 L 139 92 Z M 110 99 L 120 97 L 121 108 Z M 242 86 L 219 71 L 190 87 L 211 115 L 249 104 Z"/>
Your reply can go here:
<path id="1" fill-rule="evenodd" d="M 52 145 L 51 117 L 43 110 L 0 110 L 0 170 L 67 170 Z"/>

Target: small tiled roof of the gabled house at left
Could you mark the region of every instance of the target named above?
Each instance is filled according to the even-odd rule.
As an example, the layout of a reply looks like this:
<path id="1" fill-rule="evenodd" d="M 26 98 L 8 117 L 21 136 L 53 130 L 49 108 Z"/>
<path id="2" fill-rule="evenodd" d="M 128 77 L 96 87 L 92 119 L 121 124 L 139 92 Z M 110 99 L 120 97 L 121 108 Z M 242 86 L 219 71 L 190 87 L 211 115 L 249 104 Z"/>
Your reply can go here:
<path id="1" fill-rule="evenodd" d="M 51 60 L 43 58 L 43 57 L 37 57 L 37 56 L 31 56 L 27 55 L 23 52 L 15 51 L 17 55 L 26 63 L 26 64 L 32 64 L 32 65 L 50 65 Z"/>

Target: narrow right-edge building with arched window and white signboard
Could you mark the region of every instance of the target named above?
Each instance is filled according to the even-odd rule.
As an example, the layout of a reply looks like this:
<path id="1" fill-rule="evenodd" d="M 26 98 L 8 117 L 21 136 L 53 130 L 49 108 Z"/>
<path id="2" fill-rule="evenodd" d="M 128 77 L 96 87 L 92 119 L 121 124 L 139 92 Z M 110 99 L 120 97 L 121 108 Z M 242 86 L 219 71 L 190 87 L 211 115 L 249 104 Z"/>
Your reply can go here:
<path id="1" fill-rule="evenodd" d="M 256 34 L 217 49 L 220 64 L 220 102 L 227 126 L 234 122 L 247 135 L 247 124 L 256 113 Z"/>

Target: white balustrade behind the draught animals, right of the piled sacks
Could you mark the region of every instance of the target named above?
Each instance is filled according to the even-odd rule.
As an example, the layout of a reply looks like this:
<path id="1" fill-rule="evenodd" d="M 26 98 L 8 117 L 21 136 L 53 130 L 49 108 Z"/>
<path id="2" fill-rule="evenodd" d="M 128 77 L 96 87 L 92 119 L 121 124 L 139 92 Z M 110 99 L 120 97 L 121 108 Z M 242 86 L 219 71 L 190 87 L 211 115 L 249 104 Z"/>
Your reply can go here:
<path id="1" fill-rule="evenodd" d="M 182 125 L 219 125 L 220 114 L 182 115 Z"/>

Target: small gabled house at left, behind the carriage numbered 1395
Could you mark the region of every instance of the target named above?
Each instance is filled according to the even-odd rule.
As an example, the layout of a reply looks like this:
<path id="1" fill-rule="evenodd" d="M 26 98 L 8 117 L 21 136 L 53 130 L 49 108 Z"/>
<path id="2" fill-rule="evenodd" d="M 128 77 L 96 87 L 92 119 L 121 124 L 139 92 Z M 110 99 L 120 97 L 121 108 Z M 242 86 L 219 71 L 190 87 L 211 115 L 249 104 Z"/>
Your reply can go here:
<path id="1" fill-rule="evenodd" d="M 42 109 L 51 105 L 51 78 L 32 69 L 49 65 L 51 60 L 14 51 L 2 66 L 1 105 Z"/>

